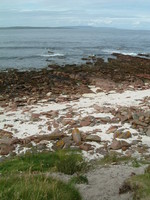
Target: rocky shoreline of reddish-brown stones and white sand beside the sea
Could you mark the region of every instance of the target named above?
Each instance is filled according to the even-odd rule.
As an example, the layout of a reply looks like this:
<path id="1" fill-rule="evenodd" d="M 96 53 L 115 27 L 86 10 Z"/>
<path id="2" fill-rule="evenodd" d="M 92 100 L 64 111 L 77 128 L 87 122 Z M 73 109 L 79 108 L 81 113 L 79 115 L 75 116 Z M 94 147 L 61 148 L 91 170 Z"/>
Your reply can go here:
<path id="1" fill-rule="evenodd" d="M 149 159 L 150 60 L 114 56 L 0 72 L 1 159 L 64 148 Z"/>

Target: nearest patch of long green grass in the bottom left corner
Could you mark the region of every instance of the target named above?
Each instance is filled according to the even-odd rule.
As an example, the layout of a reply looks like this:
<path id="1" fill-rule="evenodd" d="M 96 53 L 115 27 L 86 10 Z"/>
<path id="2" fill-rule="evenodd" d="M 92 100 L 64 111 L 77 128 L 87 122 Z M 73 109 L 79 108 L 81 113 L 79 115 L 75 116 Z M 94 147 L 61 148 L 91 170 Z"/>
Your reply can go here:
<path id="1" fill-rule="evenodd" d="M 0 186 L 2 200 L 81 200 L 73 185 L 42 175 L 1 177 Z"/>

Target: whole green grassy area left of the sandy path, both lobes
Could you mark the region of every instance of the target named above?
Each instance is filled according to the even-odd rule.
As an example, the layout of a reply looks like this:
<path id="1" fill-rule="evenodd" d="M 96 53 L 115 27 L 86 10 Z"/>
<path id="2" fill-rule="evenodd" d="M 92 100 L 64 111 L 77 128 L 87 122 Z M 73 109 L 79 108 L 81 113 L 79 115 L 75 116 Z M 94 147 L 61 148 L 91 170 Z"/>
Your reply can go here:
<path id="1" fill-rule="evenodd" d="M 82 154 L 61 150 L 25 154 L 0 163 L 0 199 L 81 200 L 73 184 L 48 177 L 45 172 L 79 173 L 86 166 Z"/>

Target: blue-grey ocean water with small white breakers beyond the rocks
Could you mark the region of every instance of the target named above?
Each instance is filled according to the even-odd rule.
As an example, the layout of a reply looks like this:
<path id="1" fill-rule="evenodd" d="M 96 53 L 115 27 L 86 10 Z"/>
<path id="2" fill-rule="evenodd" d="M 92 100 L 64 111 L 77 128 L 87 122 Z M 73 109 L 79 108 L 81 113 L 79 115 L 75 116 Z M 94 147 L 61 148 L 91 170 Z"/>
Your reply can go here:
<path id="1" fill-rule="evenodd" d="M 113 52 L 150 54 L 150 31 L 111 28 L 0 28 L 0 69 L 80 64 Z"/>

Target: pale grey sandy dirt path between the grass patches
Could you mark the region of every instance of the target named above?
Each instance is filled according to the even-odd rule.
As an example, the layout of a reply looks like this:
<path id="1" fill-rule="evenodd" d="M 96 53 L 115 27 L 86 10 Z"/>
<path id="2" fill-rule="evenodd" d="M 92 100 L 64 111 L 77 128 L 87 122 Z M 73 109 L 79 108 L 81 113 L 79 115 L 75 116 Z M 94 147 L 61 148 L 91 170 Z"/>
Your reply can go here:
<path id="1" fill-rule="evenodd" d="M 132 200 L 132 194 L 119 195 L 119 188 L 131 173 L 141 174 L 144 166 L 133 168 L 127 165 L 98 167 L 86 174 L 89 184 L 77 187 L 83 200 Z"/>

